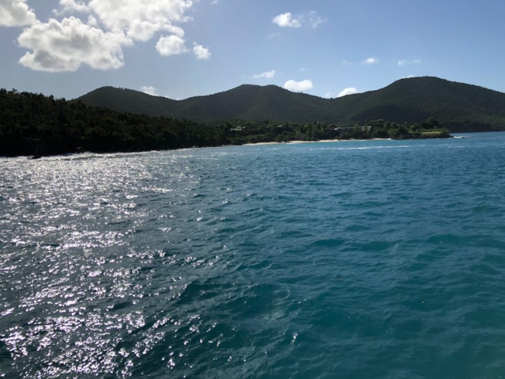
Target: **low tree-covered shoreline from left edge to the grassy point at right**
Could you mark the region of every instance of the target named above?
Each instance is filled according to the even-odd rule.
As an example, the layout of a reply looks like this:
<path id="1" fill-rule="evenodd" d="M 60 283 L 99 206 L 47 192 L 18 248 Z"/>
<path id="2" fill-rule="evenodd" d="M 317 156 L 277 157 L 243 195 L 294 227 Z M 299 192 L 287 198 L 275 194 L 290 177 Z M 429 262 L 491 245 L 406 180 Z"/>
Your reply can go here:
<path id="1" fill-rule="evenodd" d="M 326 121 L 279 123 L 229 119 L 196 123 L 134 115 L 42 94 L 0 89 L 0 155 L 129 152 L 320 139 L 448 137 L 438 121 L 422 125 L 376 120 L 338 127 Z"/>

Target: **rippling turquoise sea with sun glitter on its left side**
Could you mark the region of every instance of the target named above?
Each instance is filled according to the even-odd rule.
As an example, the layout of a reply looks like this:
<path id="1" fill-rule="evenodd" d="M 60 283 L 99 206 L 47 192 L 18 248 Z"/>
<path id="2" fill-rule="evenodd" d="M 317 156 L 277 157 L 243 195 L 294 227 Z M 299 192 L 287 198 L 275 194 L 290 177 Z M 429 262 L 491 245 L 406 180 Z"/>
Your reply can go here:
<path id="1" fill-rule="evenodd" d="M 0 159 L 1 377 L 500 378 L 505 133 Z"/>

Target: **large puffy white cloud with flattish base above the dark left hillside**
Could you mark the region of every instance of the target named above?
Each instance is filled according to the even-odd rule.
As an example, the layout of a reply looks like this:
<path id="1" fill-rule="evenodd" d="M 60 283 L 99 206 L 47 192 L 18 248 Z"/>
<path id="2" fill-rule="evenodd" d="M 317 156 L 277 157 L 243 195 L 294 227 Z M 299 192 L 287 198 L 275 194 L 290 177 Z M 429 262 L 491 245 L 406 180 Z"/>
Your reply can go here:
<path id="1" fill-rule="evenodd" d="M 122 46 L 132 44 L 121 31 L 104 32 L 75 17 L 35 24 L 23 30 L 18 42 L 32 50 L 19 63 L 49 72 L 75 71 L 83 64 L 100 70 L 120 68 L 124 65 Z"/>

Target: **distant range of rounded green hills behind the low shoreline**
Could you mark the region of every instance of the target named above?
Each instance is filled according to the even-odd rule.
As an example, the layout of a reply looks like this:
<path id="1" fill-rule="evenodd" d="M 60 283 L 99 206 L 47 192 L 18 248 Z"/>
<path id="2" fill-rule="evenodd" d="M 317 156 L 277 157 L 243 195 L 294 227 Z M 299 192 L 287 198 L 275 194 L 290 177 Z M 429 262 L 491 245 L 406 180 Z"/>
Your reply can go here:
<path id="1" fill-rule="evenodd" d="M 293 93 L 275 85 L 241 85 L 181 101 L 103 87 L 79 99 L 95 107 L 199 122 L 268 118 L 297 123 L 327 120 L 346 125 L 383 118 L 421 124 L 433 116 L 453 132 L 505 127 L 505 93 L 434 77 L 401 79 L 376 91 L 338 99 Z"/>

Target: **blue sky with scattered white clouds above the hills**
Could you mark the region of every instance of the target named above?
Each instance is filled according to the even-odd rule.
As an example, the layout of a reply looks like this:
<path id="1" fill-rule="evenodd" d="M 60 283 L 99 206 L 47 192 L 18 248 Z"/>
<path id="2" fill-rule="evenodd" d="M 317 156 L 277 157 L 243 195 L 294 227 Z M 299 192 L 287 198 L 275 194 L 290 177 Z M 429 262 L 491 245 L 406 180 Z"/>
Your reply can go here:
<path id="1" fill-rule="evenodd" d="M 335 98 L 412 76 L 505 92 L 503 0 L 0 0 L 0 87 Z"/>

